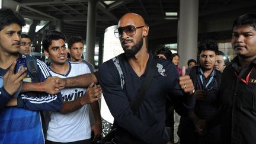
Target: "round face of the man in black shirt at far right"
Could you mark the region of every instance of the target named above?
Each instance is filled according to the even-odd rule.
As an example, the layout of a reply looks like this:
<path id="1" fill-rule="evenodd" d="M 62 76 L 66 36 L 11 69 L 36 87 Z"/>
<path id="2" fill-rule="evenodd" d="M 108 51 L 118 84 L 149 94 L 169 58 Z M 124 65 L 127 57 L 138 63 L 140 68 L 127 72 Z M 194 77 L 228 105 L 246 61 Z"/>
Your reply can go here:
<path id="1" fill-rule="evenodd" d="M 233 28 L 231 43 L 239 57 L 256 57 L 256 30 L 253 27 Z"/>

